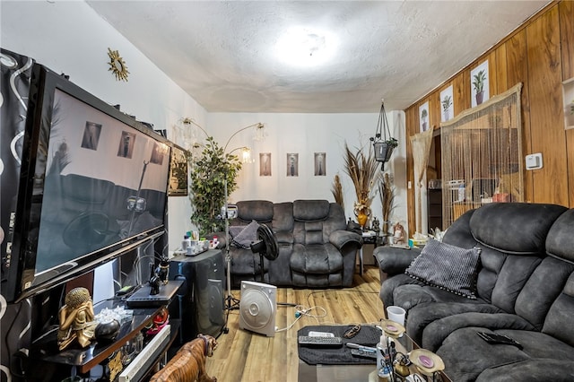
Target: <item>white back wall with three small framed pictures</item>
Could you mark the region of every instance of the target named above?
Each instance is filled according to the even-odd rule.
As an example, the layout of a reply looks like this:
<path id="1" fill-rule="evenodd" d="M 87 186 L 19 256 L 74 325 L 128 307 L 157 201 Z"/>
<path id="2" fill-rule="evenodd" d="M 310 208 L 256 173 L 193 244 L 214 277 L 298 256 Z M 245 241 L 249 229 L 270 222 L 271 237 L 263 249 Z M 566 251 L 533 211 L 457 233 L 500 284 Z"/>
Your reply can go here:
<path id="1" fill-rule="evenodd" d="M 394 152 L 385 171 L 394 179 L 396 209 L 392 221 L 406 221 L 406 179 L 404 113 L 387 113 L 388 122 L 401 144 Z M 356 201 L 351 179 L 344 173 L 344 144 L 354 152 L 363 147 L 369 150 L 370 136 L 374 135 L 378 113 L 373 114 L 281 114 L 281 113 L 209 113 L 207 124 L 215 139 L 225 145 L 230 136 L 243 126 L 265 124 L 264 142 L 253 141 L 253 129 L 231 138 L 228 152 L 236 147 L 249 146 L 255 162 L 244 165 L 238 178 L 239 189 L 230 195 L 231 202 L 265 199 L 286 202 L 295 199 L 317 198 L 335 201 L 331 192 L 335 175 L 339 175 L 344 191 L 345 213 L 354 218 L 352 205 Z M 259 153 L 271 152 L 272 176 L 259 176 Z M 287 177 L 287 153 L 299 153 L 299 176 Z M 326 152 L 326 176 L 314 175 L 314 153 Z M 378 193 L 372 204 L 379 220 L 382 209 Z"/>

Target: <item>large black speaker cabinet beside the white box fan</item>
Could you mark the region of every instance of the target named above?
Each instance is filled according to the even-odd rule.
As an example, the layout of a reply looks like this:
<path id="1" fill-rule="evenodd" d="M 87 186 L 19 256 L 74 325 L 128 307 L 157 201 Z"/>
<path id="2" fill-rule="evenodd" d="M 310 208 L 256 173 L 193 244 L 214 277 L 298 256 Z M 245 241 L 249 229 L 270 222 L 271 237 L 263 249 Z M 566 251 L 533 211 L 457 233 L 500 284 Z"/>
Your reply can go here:
<path id="1" fill-rule="evenodd" d="M 197 334 L 214 337 L 225 324 L 225 271 L 223 253 L 211 249 L 197 256 L 175 256 L 170 261 L 170 280 L 183 280 L 170 303 L 170 317 L 179 318 L 180 343 L 187 343 Z"/>

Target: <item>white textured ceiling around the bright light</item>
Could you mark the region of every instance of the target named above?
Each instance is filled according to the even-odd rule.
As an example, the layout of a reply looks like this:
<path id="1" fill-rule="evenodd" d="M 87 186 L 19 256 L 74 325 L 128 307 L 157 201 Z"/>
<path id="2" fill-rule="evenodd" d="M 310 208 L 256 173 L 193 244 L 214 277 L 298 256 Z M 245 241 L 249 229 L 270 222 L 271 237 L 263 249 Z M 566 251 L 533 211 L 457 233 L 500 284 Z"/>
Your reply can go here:
<path id="1" fill-rule="evenodd" d="M 210 112 L 405 109 L 548 1 L 88 1 Z M 335 54 L 288 65 L 285 30 L 326 30 Z"/>

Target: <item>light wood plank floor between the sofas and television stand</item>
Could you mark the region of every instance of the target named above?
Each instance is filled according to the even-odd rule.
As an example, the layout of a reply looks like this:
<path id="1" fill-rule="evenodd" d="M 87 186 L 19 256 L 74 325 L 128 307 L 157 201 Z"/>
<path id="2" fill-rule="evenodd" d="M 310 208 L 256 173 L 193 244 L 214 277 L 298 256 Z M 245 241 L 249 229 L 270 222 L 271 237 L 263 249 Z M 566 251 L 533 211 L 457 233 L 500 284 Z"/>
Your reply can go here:
<path id="1" fill-rule="evenodd" d="M 217 350 L 207 360 L 207 373 L 220 382 L 296 382 L 299 373 L 297 331 L 309 325 L 378 323 L 384 316 L 383 303 L 378 299 L 379 289 L 378 267 L 373 265 L 365 266 L 362 277 L 355 274 L 352 288 L 280 288 L 278 302 L 299 304 L 310 310 L 309 316 L 301 316 L 295 322 L 295 308 L 279 306 L 275 326 L 292 327 L 275 333 L 274 337 L 239 329 L 239 311 L 231 310 L 230 331 L 217 339 Z M 239 291 L 232 294 L 239 297 Z"/>

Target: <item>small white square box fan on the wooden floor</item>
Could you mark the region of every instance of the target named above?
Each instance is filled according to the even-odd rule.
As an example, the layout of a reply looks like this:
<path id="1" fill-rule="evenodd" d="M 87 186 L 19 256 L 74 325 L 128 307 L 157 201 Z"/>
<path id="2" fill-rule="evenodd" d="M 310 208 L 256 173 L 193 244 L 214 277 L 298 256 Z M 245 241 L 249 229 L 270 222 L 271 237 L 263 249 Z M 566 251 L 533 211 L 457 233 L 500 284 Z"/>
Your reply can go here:
<path id="1" fill-rule="evenodd" d="M 239 328 L 251 332 L 275 335 L 277 287 L 262 282 L 241 282 Z"/>

